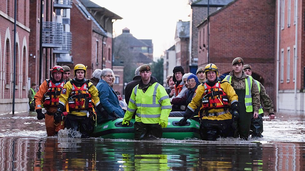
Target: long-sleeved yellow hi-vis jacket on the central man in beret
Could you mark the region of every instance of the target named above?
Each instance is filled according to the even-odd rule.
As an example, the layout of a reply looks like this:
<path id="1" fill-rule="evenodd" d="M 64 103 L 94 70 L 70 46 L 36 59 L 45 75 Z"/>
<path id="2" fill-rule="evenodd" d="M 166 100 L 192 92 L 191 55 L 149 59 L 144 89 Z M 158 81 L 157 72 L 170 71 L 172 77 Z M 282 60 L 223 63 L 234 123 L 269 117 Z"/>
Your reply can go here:
<path id="1" fill-rule="evenodd" d="M 159 123 L 160 119 L 168 121 L 172 105 L 165 88 L 159 83 L 153 83 L 143 93 L 138 86 L 133 88 L 124 118 L 130 121 L 136 111 L 136 122 L 154 124 Z"/>

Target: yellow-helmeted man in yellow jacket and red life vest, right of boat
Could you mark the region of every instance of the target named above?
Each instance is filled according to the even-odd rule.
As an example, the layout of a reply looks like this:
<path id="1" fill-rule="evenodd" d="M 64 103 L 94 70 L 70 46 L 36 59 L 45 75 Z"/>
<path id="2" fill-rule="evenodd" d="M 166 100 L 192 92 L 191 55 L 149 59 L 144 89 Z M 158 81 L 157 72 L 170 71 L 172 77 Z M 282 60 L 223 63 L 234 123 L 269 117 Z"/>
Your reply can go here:
<path id="1" fill-rule="evenodd" d="M 227 81 L 219 81 L 215 64 L 207 64 L 204 71 L 207 80 L 197 87 L 185 116 L 179 121 L 180 125 L 185 125 L 197 107 L 201 106 L 199 131 L 202 140 L 215 141 L 219 136 L 232 137 L 233 119 L 239 117 L 237 94 Z M 229 112 L 230 108 L 232 112 Z"/>

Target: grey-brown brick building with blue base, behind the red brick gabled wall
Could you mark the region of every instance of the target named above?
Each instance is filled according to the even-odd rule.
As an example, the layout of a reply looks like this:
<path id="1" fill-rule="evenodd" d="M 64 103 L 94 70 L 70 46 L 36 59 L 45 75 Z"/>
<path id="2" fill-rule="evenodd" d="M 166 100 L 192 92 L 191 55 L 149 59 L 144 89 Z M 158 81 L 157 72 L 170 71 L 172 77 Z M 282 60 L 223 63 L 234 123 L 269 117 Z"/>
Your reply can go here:
<path id="1" fill-rule="evenodd" d="M 190 61 L 190 70 L 192 73 L 196 73 L 197 71 L 197 60 L 198 53 L 200 53 L 200 49 L 198 49 L 199 41 L 197 25 L 202 21 L 202 19 L 207 17 L 207 12 L 212 14 L 213 12 L 219 10 L 221 7 L 227 5 L 232 0 L 190 0 L 191 4 L 191 21 L 190 21 L 190 50 L 189 50 L 189 61 Z M 201 48 L 202 45 L 200 45 Z"/>

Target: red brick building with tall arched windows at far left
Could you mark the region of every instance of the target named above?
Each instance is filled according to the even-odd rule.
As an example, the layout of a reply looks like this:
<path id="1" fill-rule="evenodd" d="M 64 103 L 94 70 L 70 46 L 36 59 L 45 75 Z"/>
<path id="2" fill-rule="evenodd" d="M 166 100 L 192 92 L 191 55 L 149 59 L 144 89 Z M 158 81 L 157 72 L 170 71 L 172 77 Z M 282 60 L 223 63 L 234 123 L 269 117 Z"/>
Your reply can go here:
<path id="1" fill-rule="evenodd" d="M 12 111 L 14 62 L 14 1 L 0 0 L 0 113 Z M 17 1 L 15 112 L 27 110 L 29 0 Z"/>

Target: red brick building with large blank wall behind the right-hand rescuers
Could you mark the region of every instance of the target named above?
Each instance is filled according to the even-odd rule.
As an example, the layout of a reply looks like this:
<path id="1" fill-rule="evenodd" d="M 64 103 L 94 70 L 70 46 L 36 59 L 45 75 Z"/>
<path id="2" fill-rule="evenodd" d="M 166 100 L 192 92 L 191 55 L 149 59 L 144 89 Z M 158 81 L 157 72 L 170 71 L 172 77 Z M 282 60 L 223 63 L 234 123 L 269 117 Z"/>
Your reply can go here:
<path id="1" fill-rule="evenodd" d="M 275 100 L 275 2 L 235 0 L 203 20 L 198 26 L 198 67 L 214 63 L 223 75 L 232 70 L 232 60 L 242 57 L 252 66 L 252 76 Z M 210 35 L 207 34 L 209 26 Z M 209 44 L 207 39 L 209 38 Z M 202 46 L 201 46 L 202 45 Z M 201 47 L 200 47 L 201 46 Z"/>

